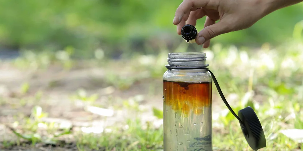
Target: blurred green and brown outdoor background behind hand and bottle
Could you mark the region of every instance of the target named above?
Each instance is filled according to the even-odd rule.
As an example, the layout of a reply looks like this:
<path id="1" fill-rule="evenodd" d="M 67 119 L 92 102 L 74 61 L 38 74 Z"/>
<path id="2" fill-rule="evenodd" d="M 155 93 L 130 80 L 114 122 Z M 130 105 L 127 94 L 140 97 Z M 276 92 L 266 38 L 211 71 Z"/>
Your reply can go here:
<path id="1" fill-rule="evenodd" d="M 172 20 L 181 2 L 0 0 L 0 133 L 6 130 L 0 149 L 29 147 L 20 138 L 45 147 L 51 138 L 58 150 L 57 139 L 66 135 L 78 150 L 163 149 L 167 53 L 185 51 L 206 53 L 236 113 L 255 108 L 268 142 L 263 151 L 302 149 L 296 136 L 303 136 L 303 3 L 215 37 L 203 49 L 176 33 Z M 214 85 L 212 93 L 214 150 L 251 151 Z M 91 107 L 114 114 L 97 115 Z M 73 128 L 54 137 L 61 128 L 53 123 L 61 120 Z"/>

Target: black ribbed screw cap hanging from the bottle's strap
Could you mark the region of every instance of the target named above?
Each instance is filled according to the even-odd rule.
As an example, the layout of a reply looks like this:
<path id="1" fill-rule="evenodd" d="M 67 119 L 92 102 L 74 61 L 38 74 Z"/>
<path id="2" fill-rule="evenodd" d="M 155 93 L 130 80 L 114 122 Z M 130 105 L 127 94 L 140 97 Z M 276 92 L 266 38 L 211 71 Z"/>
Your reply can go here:
<path id="1" fill-rule="evenodd" d="M 255 111 L 248 106 L 238 112 L 238 117 L 244 124 L 240 122 L 242 133 L 251 149 L 256 151 L 266 147 L 265 134 Z"/>

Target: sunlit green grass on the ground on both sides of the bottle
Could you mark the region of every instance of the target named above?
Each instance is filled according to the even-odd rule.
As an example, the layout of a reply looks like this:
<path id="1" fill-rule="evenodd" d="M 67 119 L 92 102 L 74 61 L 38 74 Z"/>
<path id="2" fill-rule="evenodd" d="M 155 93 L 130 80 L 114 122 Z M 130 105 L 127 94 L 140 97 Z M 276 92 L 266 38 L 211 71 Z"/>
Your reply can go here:
<path id="1" fill-rule="evenodd" d="M 296 37 L 298 36 L 296 35 Z M 182 47 L 178 49 L 182 50 Z M 210 64 L 209 68 L 215 74 L 234 111 L 237 113 L 246 106 L 251 106 L 256 111 L 267 140 L 266 148 L 260 150 L 290 151 L 303 148 L 300 140 L 289 137 L 289 132 L 283 132 L 283 130 L 289 129 L 303 129 L 303 104 L 301 103 L 303 99 L 302 42 L 293 41 L 289 42 L 288 45 L 275 48 L 271 48 L 269 44 L 265 43 L 258 50 L 251 51 L 246 51 L 246 48 L 224 47 L 216 44 L 208 50 L 202 49 L 201 51 L 206 52 L 207 62 Z M 119 91 L 125 91 L 135 83 L 147 79 L 161 79 L 166 70 L 164 65 L 166 64 L 168 51 L 163 48 L 161 52 L 158 56 L 135 56 L 127 60 L 108 60 L 102 65 L 96 64 L 108 73 L 103 79 L 106 81 L 106 85 L 113 86 Z M 61 54 L 68 56 L 70 53 L 61 52 Z M 52 55 L 34 54 L 33 56 L 35 57 L 32 57 L 32 60 L 28 59 L 31 57 L 27 57 L 27 59 L 19 58 L 18 61 L 15 61 L 16 67 L 26 69 L 31 68 L 32 63 L 36 63 L 35 70 L 47 70 L 52 64 L 59 63 L 62 69 L 77 68 L 77 61 L 69 59 L 69 57 L 64 59 L 64 57 L 57 55 L 57 59 L 51 59 L 50 56 Z M 50 57 L 48 60 L 52 61 L 42 66 L 40 63 L 43 61 L 39 57 Z M 40 60 L 40 62 L 35 60 Z M 123 66 L 123 68 L 116 68 L 117 66 Z M 118 69 L 119 72 L 109 72 L 114 68 Z M 122 72 L 123 74 L 121 74 Z M 28 93 L 30 88 L 31 85 L 25 82 L 20 88 L 21 96 Z M 38 95 L 42 94 L 44 93 L 38 93 Z M 213 86 L 213 95 L 218 96 L 215 86 Z M 161 98 L 161 96 L 159 97 Z M 90 102 L 89 105 L 97 106 L 95 103 L 99 96 L 97 94 L 87 94 L 84 89 L 79 89 L 70 98 L 71 100 Z M 33 145 L 36 143 L 60 144 L 61 142 L 61 146 L 64 146 L 67 143 L 59 141 L 60 138 L 71 135 L 78 150 L 163 149 L 162 126 L 156 127 L 150 122 L 142 123 L 142 119 L 138 115 L 142 114 L 143 110 L 140 109 L 140 101 L 134 101 L 135 98 L 119 101 L 120 104 L 118 105 L 120 108 L 127 108 L 130 114 L 134 115 L 133 118 L 106 127 L 101 133 L 97 134 L 75 132 L 69 128 L 60 130 L 55 123 L 43 122 L 41 118 L 48 115 L 42 111 L 41 107 L 35 106 L 30 117 L 24 118 L 22 122 L 16 121 L 15 123 L 16 127 L 17 125 L 21 127 L 19 129 L 22 129 L 23 132 L 18 132 L 15 127 L 12 128 L 20 141 L 17 143 L 3 142 L 3 147 L 22 145 L 21 140 L 27 140 Z M 221 98 L 218 99 L 221 101 Z M 25 105 L 24 98 L 21 97 L 20 101 Z M 110 102 L 108 101 L 108 103 Z M 216 105 L 216 108 L 222 108 L 222 110 L 227 109 L 223 102 L 214 105 Z M 161 119 L 163 115 L 161 110 L 153 108 L 152 111 L 155 117 Z M 243 137 L 238 121 L 231 113 L 220 113 L 218 118 L 214 118 L 213 123 L 215 124 L 213 127 L 214 150 L 251 150 Z M 39 127 L 41 125 L 45 126 L 47 135 L 42 136 L 40 134 Z M 302 136 L 299 133 L 297 135 Z"/>

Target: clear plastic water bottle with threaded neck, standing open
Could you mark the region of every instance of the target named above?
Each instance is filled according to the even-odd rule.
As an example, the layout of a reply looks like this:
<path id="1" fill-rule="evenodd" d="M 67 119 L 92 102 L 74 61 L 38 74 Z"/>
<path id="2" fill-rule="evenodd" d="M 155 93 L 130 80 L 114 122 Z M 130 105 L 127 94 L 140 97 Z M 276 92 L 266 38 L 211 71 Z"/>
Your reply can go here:
<path id="1" fill-rule="evenodd" d="M 171 68 L 163 76 L 165 151 L 212 150 L 211 74 L 178 69 L 206 66 L 205 60 L 205 53 L 168 54 Z"/>

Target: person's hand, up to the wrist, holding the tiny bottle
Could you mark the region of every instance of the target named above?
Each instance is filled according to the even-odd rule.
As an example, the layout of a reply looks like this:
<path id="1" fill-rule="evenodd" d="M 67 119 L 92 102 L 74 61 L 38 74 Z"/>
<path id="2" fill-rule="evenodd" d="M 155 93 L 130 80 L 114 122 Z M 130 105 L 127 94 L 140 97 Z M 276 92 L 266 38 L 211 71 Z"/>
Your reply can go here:
<path id="1" fill-rule="evenodd" d="M 274 11 L 270 9 L 271 0 L 183 0 L 175 12 L 173 24 L 177 33 L 185 24 L 196 26 L 197 20 L 206 16 L 204 29 L 197 37 L 196 43 L 203 48 L 210 45 L 211 38 L 231 31 L 251 27 L 265 15 Z M 274 1 L 274 0 L 273 0 Z M 220 20 L 216 23 L 216 21 Z"/>

